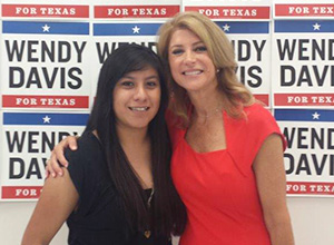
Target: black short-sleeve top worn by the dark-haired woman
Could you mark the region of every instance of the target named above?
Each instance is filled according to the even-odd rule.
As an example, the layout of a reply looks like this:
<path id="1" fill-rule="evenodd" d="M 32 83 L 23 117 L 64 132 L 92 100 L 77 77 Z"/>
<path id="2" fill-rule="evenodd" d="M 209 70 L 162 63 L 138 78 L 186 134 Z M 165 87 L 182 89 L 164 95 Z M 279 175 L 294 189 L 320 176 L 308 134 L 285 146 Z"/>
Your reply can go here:
<path id="1" fill-rule="evenodd" d="M 68 170 L 79 194 L 76 210 L 67 219 L 68 244 L 170 245 L 169 237 L 130 229 L 121 197 L 110 179 L 101 145 L 92 133 L 78 139 L 78 149 L 65 153 Z"/>

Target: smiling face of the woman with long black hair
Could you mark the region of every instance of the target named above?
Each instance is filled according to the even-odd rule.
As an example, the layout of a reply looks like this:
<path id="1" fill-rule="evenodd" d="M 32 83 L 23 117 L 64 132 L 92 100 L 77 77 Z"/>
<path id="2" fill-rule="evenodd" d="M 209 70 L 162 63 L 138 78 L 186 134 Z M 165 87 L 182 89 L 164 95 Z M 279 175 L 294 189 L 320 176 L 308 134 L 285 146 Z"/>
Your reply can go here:
<path id="1" fill-rule="evenodd" d="M 160 94 L 159 76 L 154 68 L 126 74 L 114 89 L 117 127 L 147 128 L 159 109 Z"/>

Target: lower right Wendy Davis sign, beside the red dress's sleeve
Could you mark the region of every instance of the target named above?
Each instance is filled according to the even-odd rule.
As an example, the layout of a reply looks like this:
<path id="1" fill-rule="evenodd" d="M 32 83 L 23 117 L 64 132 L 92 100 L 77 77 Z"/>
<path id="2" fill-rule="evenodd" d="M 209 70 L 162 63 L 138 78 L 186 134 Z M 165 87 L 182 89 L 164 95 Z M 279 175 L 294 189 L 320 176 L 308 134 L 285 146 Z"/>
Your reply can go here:
<path id="1" fill-rule="evenodd" d="M 286 137 L 284 161 L 291 195 L 334 192 L 334 117 L 325 109 L 275 109 Z"/>

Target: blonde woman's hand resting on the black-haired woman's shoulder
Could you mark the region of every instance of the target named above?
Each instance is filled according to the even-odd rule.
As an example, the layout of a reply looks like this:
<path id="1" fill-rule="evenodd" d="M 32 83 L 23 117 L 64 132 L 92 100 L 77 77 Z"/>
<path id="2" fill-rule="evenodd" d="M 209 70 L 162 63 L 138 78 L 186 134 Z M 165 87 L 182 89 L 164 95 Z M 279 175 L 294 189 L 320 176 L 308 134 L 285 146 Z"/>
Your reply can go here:
<path id="1" fill-rule="evenodd" d="M 61 166 L 67 167 L 68 161 L 65 158 L 65 149 L 70 148 L 71 150 L 77 149 L 77 137 L 76 136 L 68 136 L 65 139 L 62 139 L 60 143 L 58 143 L 57 146 L 55 146 L 53 150 L 51 151 L 51 157 L 47 161 L 46 166 L 46 177 L 48 178 L 50 175 L 52 177 L 57 177 L 57 175 L 62 176 L 63 170 L 61 169 Z"/>

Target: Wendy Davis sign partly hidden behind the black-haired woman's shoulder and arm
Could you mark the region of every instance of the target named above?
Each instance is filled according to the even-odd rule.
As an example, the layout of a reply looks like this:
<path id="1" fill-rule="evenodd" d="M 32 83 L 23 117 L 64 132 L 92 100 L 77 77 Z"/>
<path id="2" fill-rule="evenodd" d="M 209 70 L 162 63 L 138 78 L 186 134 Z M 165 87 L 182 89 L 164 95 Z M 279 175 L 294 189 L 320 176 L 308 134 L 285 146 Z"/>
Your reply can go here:
<path id="1" fill-rule="evenodd" d="M 66 136 L 80 135 L 89 115 L 3 111 L 1 116 L 1 198 L 37 198 L 50 151 Z"/>

